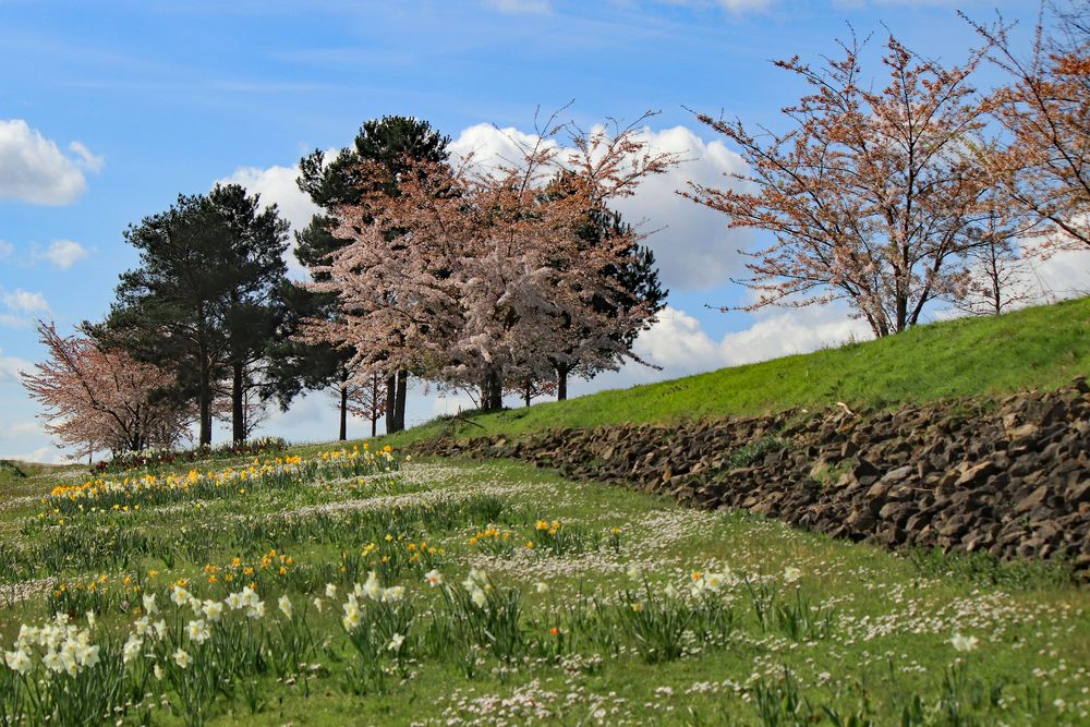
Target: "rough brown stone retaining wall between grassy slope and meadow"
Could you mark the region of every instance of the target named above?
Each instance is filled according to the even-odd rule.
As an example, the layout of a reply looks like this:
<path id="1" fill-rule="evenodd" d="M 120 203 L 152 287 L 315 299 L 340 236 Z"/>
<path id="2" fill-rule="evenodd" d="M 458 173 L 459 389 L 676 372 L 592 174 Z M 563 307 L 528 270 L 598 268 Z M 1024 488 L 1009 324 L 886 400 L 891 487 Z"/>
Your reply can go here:
<path id="1" fill-rule="evenodd" d="M 896 412 L 810 413 L 435 439 L 565 476 L 742 508 L 888 547 L 1064 557 L 1090 580 L 1090 386 Z"/>

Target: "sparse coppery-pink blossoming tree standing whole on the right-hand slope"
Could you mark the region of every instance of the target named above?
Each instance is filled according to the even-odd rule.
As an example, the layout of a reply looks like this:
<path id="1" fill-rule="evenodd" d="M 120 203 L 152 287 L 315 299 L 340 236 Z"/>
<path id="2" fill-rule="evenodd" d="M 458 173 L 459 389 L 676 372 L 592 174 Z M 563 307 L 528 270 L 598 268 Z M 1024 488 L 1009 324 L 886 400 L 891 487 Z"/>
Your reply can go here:
<path id="1" fill-rule="evenodd" d="M 740 121 L 699 119 L 739 147 L 739 190 L 698 184 L 687 194 L 725 213 L 731 227 L 773 234 L 751 254 L 744 310 L 845 299 L 875 336 L 915 325 L 924 306 L 964 284 L 964 255 L 982 244 L 980 202 L 991 180 L 971 149 L 984 120 L 970 76 L 986 49 L 946 69 L 891 37 L 888 84 L 869 90 L 860 46 L 825 70 L 797 57 L 776 64 L 812 89 L 784 109 L 782 134 Z"/>

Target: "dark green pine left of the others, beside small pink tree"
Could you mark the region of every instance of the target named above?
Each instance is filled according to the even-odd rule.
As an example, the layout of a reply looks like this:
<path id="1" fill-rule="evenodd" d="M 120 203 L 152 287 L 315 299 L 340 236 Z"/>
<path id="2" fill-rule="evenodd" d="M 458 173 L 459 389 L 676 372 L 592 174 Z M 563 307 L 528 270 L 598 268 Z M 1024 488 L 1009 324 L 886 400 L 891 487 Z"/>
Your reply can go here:
<path id="1" fill-rule="evenodd" d="M 196 399 L 198 440 L 211 443 L 216 385 L 231 378 L 235 438 L 245 436 L 247 367 L 274 337 L 282 303 L 287 222 L 238 185 L 179 195 L 125 230 L 141 266 L 121 276 L 96 336 L 171 368 L 173 396 Z"/>

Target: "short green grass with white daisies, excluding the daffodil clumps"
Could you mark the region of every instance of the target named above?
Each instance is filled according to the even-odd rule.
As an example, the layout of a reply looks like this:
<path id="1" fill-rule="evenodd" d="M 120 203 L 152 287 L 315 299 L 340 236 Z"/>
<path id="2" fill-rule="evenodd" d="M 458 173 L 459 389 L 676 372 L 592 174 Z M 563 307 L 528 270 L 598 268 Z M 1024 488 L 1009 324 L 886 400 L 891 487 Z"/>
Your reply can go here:
<path id="1" fill-rule="evenodd" d="M 1090 687 L 1090 593 L 1071 585 L 1062 569 L 1043 564 L 895 555 L 772 520 L 690 510 L 666 498 L 573 483 L 502 461 L 411 463 L 392 481 L 371 481 L 355 490 L 348 489 L 352 483 L 312 486 L 305 478 L 274 487 L 252 483 L 245 493 L 225 488 L 181 507 L 154 505 L 137 495 L 145 502 L 138 514 L 70 512 L 63 523 L 49 516 L 48 524 L 40 524 L 37 512 L 49 508 L 38 496 L 57 482 L 78 482 L 64 476 L 52 470 L 21 478 L 19 485 L 0 484 L 0 497 L 17 486 L 27 500 L 17 511 L 0 509 L 0 555 L 16 555 L 0 559 L 0 566 L 8 564 L 0 590 L 20 584 L 29 590 L 23 599 L 0 605 L 3 650 L 12 647 L 21 622 L 39 622 L 56 608 L 55 581 L 43 570 L 51 561 L 62 564 L 51 573 L 57 581 L 106 575 L 114 593 L 123 575 L 138 578 L 145 590 L 159 593 L 168 620 L 175 613 L 166 597 L 168 583 L 186 578 L 201 598 L 223 597 L 230 589 L 208 583 L 204 567 L 226 567 L 233 557 L 245 566 L 271 548 L 277 557 L 290 555 L 293 565 L 286 575 L 265 571 L 255 578 L 267 603 L 263 622 L 282 622 L 276 608 L 280 594 L 301 608 L 314 596 L 324 597 L 327 580 L 338 583 L 338 597 L 322 614 L 312 609 L 306 617 L 324 640 L 307 657 L 318 666 L 281 676 L 266 664 L 245 677 L 218 679 L 223 689 L 206 707 L 208 724 L 408 725 L 458 717 L 484 725 L 501 719 L 835 725 L 832 713 L 845 724 L 856 715 L 886 725 L 901 724 L 907 710 L 905 724 L 921 727 L 1063 725 L 1085 723 L 1090 710 L 1082 691 Z M 398 499 L 389 499 L 391 494 Z M 448 504 L 413 509 L 435 496 L 449 498 L 443 500 Z M 353 505 L 367 514 L 330 519 L 339 506 Z M 545 548 L 540 555 L 526 552 L 523 540 L 541 534 L 538 520 L 558 520 L 574 545 L 559 555 Z M 516 533 L 516 547 L 491 550 L 472 544 L 471 536 L 489 524 Z M 615 541 L 613 528 L 619 528 Z M 380 566 L 373 561 L 353 575 L 340 573 L 338 565 L 368 543 L 386 547 L 386 533 L 395 543 L 403 535 L 441 547 L 436 567 L 456 591 L 471 567 L 489 573 L 500 590 L 519 591 L 519 629 L 526 643 L 547 646 L 556 626 L 570 640 L 562 656 L 531 650 L 505 662 L 484 644 L 468 674 L 463 647 L 456 645 L 439 655 L 421 653 L 382 687 L 358 693 L 348 669 L 364 663 L 339 623 L 341 604 L 353 580 L 363 581 L 367 567 Z M 94 557 L 85 557 L 85 550 Z M 17 557 L 27 552 L 36 554 L 35 562 Z M 628 574 L 633 566 L 640 573 L 635 578 Z M 728 635 L 682 637 L 674 640 L 685 645 L 682 653 L 663 659 L 647 652 L 647 643 L 668 632 L 663 629 L 674 611 L 666 608 L 643 630 L 622 626 L 625 614 L 632 613 L 627 606 L 632 594 L 649 609 L 657 603 L 642 594 L 645 582 L 657 598 L 666 586 L 685 591 L 694 571 L 725 567 L 739 579 L 722 595 L 732 619 Z M 785 583 L 788 567 L 799 569 L 797 583 Z M 20 569 L 33 572 L 20 580 Z M 153 570 L 158 573 L 150 575 Z M 384 585 L 407 587 L 405 599 L 423 609 L 413 628 L 426 629 L 432 614 L 443 613 L 438 591 L 423 582 L 426 568 L 401 562 L 387 571 Z M 547 583 L 547 593 L 538 592 L 540 582 Z M 72 615 L 82 623 L 84 611 L 98 604 L 96 639 L 106 633 L 123 639 L 137 616 L 117 595 L 82 598 L 73 602 L 78 607 L 71 608 Z M 589 606 L 590 598 L 596 607 Z M 771 606 L 765 619 L 754 602 Z M 182 626 L 194 618 L 187 608 L 178 613 Z M 807 627 L 808 620 L 821 622 Z M 959 655 L 950 644 L 954 631 L 979 639 L 977 650 Z M 271 633 L 278 638 L 276 629 Z M 187 644 L 184 635 L 180 639 Z M 275 643 L 266 647 L 275 650 Z M 383 659 L 389 663 L 388 656 Z M 145 717 L 153 724 L 193 724 L 169 679 L 153 679 L 146 689 L 154 698 L 131 708 L 126 724 Z M 911 716 L 916 698 L 924 713 L 920 720 Z M 508 700 L 506 705 L 501 700 Z"/>

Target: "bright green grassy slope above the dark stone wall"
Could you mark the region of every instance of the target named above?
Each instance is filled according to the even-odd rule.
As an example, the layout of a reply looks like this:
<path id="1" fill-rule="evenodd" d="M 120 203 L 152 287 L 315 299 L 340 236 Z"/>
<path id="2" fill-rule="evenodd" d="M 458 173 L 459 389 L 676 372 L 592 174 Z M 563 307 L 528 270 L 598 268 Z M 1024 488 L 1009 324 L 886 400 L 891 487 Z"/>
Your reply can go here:
<path id="1" fill-rule="evenodd" d="M 884 340 L 734 366 L 562 403 L 436 421 L 392 438 L 518 434 L 546 427 L 751 415 L 837 401 L 884 408 L 1051 388 L 1090 374 L 1090 298 L 993 318 L 961 318 Z M 457 424 L 457 426 L 453 426 Z"/>

